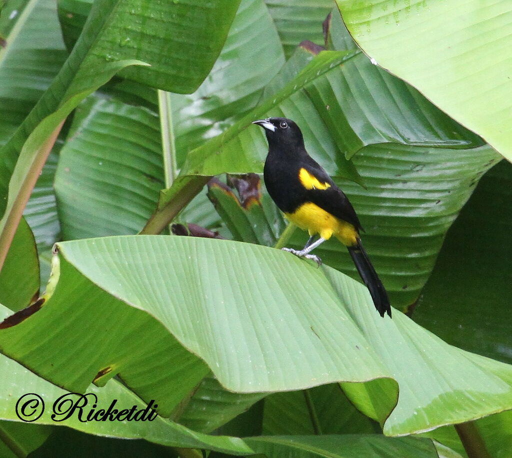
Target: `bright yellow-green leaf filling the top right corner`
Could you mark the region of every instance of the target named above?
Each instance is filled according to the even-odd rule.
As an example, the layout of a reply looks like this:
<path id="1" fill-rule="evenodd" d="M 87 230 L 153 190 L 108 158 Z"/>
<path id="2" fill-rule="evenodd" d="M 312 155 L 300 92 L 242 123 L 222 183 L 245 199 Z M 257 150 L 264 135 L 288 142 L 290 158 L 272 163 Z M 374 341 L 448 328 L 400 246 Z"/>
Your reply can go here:
<path id="1" fill-rule="evenodd" d="M 357 43 L 378 65 L 508 159 L 512 142 L 512 9 L 507 0 L 336 0 Z"/>

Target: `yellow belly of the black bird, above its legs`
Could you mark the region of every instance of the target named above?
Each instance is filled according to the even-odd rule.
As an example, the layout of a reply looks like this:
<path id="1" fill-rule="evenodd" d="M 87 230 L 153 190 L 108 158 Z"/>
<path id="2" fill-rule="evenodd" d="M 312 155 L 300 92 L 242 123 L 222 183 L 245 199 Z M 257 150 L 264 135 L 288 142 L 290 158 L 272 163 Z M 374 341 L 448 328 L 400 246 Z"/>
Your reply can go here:
<path id="1" fill-rule="evenodd" d="M 309 235 L 318 234 L 323 239 L 330 239 L 334 235 L 346 246 L 357 244 L 357 231 L 347 221 L 336 218 L 312 202 L 303 203 L 293 213 L 285 216 L 301 229 L 308 231 Z"/>

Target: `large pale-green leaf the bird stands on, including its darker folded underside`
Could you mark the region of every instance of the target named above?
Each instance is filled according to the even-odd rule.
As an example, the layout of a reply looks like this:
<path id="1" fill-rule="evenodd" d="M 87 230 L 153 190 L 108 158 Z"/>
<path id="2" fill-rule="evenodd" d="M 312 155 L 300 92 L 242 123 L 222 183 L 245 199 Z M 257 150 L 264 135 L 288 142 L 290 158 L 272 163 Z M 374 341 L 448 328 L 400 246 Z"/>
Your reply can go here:
<path id="1" fill-rule="evenodd" d="M 118 373 L 168 414 L 204 376 L 198 355 L 239 392 L 377 379 L 370 383 L 380 392 L 368 390 L 367 400 L 344 385 L 365 413 L 382 394 L 396 400 L 392 376 L 398 404 L 386 420 L 393 407 L 386 401 L 378 418 L 390 435 L 512 407 L 510 366 L 446 345 L 398 311 L 382 319 L 367 289 L 334 269 L 267 247 L 191 237 L 108 237 L 59 250 L 53 295 L 2 330 L 0 346 L 69 389 L 87 389 L 100 370 L 101 384 Z M 241 289 L 240 278 L 251 281 Z M 135 339 L 142 329 L 144 339 Z"/>

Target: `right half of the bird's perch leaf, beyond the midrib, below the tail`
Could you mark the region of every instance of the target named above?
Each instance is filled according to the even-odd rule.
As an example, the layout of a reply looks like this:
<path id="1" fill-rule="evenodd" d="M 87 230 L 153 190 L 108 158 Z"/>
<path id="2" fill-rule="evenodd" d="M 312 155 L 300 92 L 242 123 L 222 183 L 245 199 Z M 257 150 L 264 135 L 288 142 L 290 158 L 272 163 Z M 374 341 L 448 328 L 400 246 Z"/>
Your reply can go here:
<path id="1" fill-rule="evenodd" d="M 346 286 L 339 281 L 342 277 L 334 277 L 333 272 L 336 271 L 326 270 L 338 294 L 344 294 Z M 426 329 L 416 324 L 412 326 L 405 315 L 395 313 L 393 324 L 396 328 L 391 328 L 385 321 L 376 320 L 378 316 L 364 316 L 355 301 L 348 301 L 347 305 L 351 316 L 372 347 L 379 351 L 381 361 L 398 382 L 398 404 L 386 420 L 386 434 L 400 435 L 432 429 L 425 428 L 426 424 L 442 426 L 462 423 L 483 416 L 473 417 L 476 411 L 485 410 L 489 414 L 510 408 L 505 407 L 502 401 L 510 395 L 506 394 L 507 391 L 511 393 L 512 366 L 501 365 L 494 360 L 446 345 Z M 386 326 L 386 331 L 382 326 Z M 430 381 L 427 382 L 423 377 L 428 377 Z M 485 380 L 486 377 L 490 379 Z M 370 413 L 371 407 L 374 407 L 377 415 L 381 415 L 385 413 L 382 398 L 389 397 L 390 391 L 382 385 L 386 382 L 344 384 L 344 390 L 363 412 Z M 363 389 L 367 390 L 368 398 L 361 395 Z M 421 411 L 419 405 L 424 406 Z M 384 418 L 377 420 L 382 423 Z"/>

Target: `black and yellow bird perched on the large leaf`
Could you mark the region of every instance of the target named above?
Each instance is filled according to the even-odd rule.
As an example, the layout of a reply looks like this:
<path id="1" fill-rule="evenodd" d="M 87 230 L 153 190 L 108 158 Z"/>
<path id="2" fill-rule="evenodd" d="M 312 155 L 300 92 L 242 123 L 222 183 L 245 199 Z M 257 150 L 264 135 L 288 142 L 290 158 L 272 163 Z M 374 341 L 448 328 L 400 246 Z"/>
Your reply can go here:
<path id="1" fill-rule="evenodd" d="M 310 254 L 331 236 L 347 248 L 381 317 L 391 317 L 388 294 L 373 267 L 359 232 L 359 218 L 347 196 L 306 151 L 301 129 L 291 119 L 272 117 L 253 121 L 265 131 L 268 154 L 263 169 L 267 192 L 286 218 L 308 231 L 302 250 L 282 248 L 298 257 L 322 263 Z M 313 242 L 314 237 L 319 238 Z"/>

